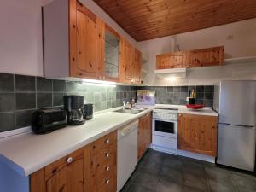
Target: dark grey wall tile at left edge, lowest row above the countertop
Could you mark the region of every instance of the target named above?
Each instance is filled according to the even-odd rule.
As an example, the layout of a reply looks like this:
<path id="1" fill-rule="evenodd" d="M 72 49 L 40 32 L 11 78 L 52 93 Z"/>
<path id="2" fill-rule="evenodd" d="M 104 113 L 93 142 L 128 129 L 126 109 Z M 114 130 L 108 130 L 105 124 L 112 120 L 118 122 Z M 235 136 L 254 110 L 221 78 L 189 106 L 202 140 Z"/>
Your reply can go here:
<path id="1" fill-rule="evenodd" d="M 0 113 L 0 132 L 15 129 L 15 113 Z"/>

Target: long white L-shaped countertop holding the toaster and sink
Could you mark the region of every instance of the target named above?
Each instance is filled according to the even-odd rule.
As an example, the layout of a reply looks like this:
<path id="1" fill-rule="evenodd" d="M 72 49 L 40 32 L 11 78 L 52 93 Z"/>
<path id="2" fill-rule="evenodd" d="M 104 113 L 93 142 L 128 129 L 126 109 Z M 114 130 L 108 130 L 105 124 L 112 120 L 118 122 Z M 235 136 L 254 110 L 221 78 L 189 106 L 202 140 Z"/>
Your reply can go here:
<path id="1" fill-rule="evenodd" d="M 195 113 L 201 115 L 218 115 L 211 109 L 200 111 L 186 110 L 183 106 L 156 105 L 156 107 L 177 107 L 179 113 Z M 116 113 L 109 110 L 98 113 L 94 119 L 84 125 L 67 126 L 50 134 L 35 135 L 32 132 L 8 137 L 0 140 L 0 160 L 19 172 L 29 176 L 55 160 L 96 141 L 96 139 L 114 131 L 123 125 L 143 116 L 153 110 L 137 113 Z"/>

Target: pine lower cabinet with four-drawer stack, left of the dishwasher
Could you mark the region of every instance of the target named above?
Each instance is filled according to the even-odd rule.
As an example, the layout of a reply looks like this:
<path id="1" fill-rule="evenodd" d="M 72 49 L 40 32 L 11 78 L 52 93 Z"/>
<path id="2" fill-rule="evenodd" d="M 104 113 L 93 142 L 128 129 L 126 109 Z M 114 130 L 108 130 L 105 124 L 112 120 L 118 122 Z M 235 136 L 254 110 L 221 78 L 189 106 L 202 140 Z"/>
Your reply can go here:
<path id="1" fill-rule="evenodd" d="M 30 192 L 116 192 L 116 131 L 30 176 Z"/>

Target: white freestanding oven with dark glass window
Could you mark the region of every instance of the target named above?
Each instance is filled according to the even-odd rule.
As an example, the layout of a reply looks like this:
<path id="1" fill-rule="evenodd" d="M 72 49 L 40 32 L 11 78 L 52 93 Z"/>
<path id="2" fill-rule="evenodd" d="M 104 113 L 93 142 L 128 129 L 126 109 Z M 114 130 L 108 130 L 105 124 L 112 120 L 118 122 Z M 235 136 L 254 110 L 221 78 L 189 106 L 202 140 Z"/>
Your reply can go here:
<path id="1" fill-rule="evenodd" d="M 154 108 L 152 148 L 177 154 L 177 108 Z"/>

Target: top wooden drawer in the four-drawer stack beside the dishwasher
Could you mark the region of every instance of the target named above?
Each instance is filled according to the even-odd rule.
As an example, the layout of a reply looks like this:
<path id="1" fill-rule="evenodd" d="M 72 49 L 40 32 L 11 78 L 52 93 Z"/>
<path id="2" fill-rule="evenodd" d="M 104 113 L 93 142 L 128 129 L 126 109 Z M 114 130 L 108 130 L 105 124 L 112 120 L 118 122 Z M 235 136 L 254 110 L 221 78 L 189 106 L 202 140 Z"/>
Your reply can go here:
<path id="1" fill-rule="evenodd" d="M 90 144 L 90 152 L 92 155 L 101 153 L 102 149 L 112 148 L 113 145 L 116 145 L 116 131 L 108 134 L 107 136 L 101 137 L 96 140 L 94 143 Z"/>

